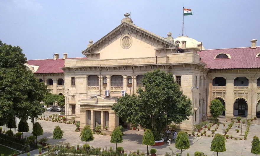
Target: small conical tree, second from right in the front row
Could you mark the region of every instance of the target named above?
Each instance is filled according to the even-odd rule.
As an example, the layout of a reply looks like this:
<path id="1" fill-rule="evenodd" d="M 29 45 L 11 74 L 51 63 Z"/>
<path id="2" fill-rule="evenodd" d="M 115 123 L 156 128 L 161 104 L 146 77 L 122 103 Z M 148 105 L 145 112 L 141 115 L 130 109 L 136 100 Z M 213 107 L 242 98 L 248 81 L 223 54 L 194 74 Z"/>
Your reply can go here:
<path id="1" fill-rule="evenodd" d="M 226 145 L 225 145 L 225 137 L 219 133 L 215 134 L 215 137 L 213 138 L 211 142 L 210 151 L 217 152 L 225 152 L 226 151 Z"/>

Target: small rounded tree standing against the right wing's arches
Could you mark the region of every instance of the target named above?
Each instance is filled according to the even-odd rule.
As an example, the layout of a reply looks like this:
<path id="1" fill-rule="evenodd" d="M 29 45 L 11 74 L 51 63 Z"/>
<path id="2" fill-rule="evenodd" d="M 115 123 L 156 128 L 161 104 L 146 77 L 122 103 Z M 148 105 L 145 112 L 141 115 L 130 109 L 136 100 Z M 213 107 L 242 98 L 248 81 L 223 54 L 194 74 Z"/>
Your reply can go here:
<path id="1" fill-rule="evenodd" d="M 222 105 L 222 103 L 220 102 L 220 100 L 218 99 L 213 99 L 210 102 L 209 105 L 209 112 L 210 115 L 216 119 L 216 123 L 217 123 L 217 117 L 220 116 L 222 114 L 222 111 L 225 111 L 224 105 Z"/>

